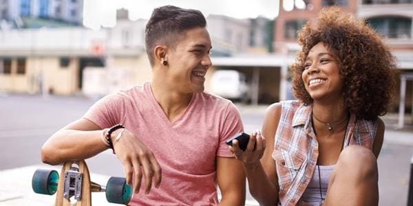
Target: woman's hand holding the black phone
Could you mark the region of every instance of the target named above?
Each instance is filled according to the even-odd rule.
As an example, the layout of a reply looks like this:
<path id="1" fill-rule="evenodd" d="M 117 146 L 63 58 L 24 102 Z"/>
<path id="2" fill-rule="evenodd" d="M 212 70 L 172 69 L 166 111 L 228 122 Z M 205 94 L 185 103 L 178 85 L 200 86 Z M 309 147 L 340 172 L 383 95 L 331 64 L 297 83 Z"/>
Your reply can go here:
<path id="1" fill-rule="evenodd" d="M 235 155 L 235 159 L 242 161 L 244 165 L 254 165 L 260 162 L 265 150 L 265 138 L 261 135 L 260 130 L 256 130 L 250 136 L 245 151 L 240 149 L 239 143 L 236 139 L 232 141 L 233 146 L 229 149 Z"/>

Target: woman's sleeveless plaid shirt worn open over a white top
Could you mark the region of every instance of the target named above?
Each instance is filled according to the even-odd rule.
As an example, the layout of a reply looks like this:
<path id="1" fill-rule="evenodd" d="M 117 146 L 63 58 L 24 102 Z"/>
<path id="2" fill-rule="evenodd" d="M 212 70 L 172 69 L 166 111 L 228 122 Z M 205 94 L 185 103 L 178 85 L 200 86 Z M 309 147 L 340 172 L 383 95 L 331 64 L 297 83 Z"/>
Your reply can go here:
<path id="1" fill-rule="evenodd" d="M 282 103 L 272 157 L 275 160 L 279 203 L 297 205 L 313 176 L 317 163 L 318 143 L 311 114 L 312 106 L 297 100 Z M 372 150 L 377 122 L 356 119 L 350 114 L 343 147 L 359 145 Z"/>

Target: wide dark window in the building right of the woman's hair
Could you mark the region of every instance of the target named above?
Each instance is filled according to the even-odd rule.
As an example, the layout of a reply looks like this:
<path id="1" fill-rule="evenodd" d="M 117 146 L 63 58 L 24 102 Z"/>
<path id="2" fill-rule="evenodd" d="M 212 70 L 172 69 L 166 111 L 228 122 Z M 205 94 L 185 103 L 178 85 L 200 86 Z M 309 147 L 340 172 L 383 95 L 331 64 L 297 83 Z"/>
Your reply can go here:
<path id="1" fill-rule="evenodd" d="M 388 38 L 411 38 L 412 19 L 399 16 L 385 16 L 368 19 L 377 32 Z"/>

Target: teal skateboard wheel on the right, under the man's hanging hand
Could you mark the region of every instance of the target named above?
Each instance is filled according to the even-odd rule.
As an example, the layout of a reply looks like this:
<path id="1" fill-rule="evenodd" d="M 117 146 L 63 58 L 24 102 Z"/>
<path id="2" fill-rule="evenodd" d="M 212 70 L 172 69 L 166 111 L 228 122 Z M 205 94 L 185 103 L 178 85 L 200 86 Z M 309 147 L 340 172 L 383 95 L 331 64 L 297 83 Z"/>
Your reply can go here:
<path id="1" fill-rule="evenodd" d="M 112 176 L 106 185 L 106 199 L 109 203 L 126 205 L 131 201 L 132 187 L 126 184 L 126 179 Z"/>

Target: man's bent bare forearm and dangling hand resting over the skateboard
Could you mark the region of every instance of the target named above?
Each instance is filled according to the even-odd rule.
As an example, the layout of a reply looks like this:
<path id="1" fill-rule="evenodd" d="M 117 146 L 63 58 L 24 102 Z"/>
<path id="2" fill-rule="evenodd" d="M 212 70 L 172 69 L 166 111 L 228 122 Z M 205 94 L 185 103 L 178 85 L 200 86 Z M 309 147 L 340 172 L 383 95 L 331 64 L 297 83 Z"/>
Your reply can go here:
<path id="1" fill-rule="evenodd" d="M 132 176 L 135 176 L 134 192 L 140 189 L 140 181 L 145 176 L 145 192 L 151 190 L 152 179 L 156 187 L 161 181 L 161 169 L 153 153 L 129 130 L 123 132 L 122 138 L 115 141 L 114 137 L 120 133 L 115 130 L 112 143 L 116 156 L 122 163 L 127 184 L 131 185 Z M 47 139 L 41 149 L 41 159 L 44 163 L 57 165 L 69 160 L 80 160 L 93 157 L 107 146 L 102 140 L 103 130 L 88 119 L 78 119 L 65 126 Z M 140 167 L 142 165 L 142 168 Z"/>

